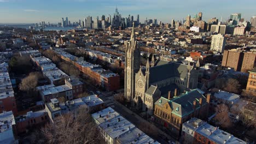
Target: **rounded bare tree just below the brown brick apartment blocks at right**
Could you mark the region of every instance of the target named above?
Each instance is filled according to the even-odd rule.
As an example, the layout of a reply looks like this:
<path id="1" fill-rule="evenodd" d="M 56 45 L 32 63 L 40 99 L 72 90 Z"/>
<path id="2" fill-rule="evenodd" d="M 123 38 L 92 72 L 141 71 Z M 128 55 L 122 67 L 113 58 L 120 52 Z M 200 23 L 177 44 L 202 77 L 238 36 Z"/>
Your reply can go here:
<path id="1" fill-rule="evenodd" d="M 236 79 L 228 79 L 224 85 L 224 91 L 231 93 L 239 93 L 240 92 L 240 83 Z"/>

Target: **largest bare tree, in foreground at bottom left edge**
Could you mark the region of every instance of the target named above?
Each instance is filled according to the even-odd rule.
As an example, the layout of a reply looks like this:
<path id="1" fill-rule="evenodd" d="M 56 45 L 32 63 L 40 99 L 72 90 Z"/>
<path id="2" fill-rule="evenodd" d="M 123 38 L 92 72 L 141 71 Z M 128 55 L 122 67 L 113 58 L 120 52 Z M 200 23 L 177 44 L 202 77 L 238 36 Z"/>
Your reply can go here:
<path id="1" fill-rule="evenodd" d="M 39 132 L 31 135 L 30 139 L 31 142 L 44 143 L 104 143 L 97 125 L 84 107 L 79 108 L 76 114 L 60 116 L 54 124 L 46 124 Z"/>

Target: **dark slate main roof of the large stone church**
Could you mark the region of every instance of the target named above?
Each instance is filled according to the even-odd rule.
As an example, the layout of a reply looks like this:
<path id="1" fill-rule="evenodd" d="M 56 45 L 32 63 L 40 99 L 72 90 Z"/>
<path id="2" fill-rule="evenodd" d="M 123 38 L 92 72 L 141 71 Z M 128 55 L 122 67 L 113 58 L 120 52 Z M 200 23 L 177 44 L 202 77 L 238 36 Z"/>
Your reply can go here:
<path id="1" fill-rule="evenodd" d="M 149 69 L 149 83 L 170 79 L 170 77 L 181 77 L 181 79 L 184 79 L 188 73 L 187 67 L 188 65 L 174 62 L 156 65 Z"/>

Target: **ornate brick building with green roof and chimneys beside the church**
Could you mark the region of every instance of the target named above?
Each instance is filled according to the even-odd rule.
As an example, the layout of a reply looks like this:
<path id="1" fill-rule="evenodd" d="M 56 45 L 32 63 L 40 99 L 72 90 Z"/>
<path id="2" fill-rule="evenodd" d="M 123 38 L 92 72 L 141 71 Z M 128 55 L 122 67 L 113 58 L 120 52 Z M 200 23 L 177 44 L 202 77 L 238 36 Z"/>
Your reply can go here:
<path id="1" fill-rule="evenodd" d="M 168 99 L 161 97 L 155 102 L 154 121 L 168 129 L 173 135 L 179 136 L 182 123 L 191 117 L 202 119 L 208 116 L 210 95 L 203 96 L 198 89 Z"/>

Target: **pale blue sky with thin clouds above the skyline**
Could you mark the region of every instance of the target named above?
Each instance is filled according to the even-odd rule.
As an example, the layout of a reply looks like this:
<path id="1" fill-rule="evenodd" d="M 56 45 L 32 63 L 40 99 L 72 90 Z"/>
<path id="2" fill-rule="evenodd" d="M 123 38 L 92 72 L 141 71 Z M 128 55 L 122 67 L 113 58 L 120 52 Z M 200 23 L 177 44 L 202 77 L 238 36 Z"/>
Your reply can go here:
<path id="1" fill-rule="evenodd" d="M 140 22 L 146 17 L 162 22 L 182 20 L 200 11 L 205 21 L 212 17 L 223 17 L 224 21 L 232 13 L 242 13 L 245 20 L 256 15 L 255 0 L 0 0 L 0 23 L 57 23 L 66 16 L 71 22 L 88 15 L 92 19 L 108 14 L 113 17 L 115 7 L 122 17 L 139 14 Z"/>

